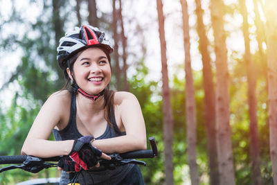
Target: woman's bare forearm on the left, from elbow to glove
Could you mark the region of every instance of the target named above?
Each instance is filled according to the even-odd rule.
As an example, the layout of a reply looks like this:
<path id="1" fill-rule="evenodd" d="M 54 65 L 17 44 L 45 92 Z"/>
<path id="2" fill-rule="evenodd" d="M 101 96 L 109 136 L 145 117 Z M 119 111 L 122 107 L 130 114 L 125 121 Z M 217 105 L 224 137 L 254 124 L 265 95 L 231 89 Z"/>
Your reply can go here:
<path id="1" fill-rule="evenodd" d="M 26 140 L 21 149 L 21 155 L 33 155 L 35 157 L 56 157 L 69 155 L 72 150 L 73 140 L 48 141 L 44 139 Z"/>

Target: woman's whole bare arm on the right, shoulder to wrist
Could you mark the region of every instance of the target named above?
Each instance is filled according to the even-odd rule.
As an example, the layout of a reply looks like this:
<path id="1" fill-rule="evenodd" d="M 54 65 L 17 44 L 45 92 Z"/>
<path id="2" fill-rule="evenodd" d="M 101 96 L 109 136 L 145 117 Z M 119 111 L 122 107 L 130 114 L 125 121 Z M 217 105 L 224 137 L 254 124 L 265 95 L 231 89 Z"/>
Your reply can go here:
<path id="1" fill-rule="evenodd" d="M 147 148 L 145 123 L 136 96 L 128 92 L 116 92 L 114 105 L 115 114 L 120 114 L 120 122 L 125 127 L 126 135 L 99 139 L 93 141 L 93 146 L 105 153 L 145 150 Z"/>

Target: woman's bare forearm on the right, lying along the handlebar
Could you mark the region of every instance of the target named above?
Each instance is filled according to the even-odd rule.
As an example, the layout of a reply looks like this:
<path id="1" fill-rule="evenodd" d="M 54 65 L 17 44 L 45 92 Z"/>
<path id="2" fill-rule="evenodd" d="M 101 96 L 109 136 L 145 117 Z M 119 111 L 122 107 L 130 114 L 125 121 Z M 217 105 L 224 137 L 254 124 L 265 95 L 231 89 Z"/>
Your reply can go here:
<path id="1" fill-rule="evenodd" d="M 147 148 L 144 136 L 118 136 L 110 139 L 97 139 L 92 142 L 93 146 L 107 154 L 118 152 L 129 152 L 134 150 L 145 150 Z"/>

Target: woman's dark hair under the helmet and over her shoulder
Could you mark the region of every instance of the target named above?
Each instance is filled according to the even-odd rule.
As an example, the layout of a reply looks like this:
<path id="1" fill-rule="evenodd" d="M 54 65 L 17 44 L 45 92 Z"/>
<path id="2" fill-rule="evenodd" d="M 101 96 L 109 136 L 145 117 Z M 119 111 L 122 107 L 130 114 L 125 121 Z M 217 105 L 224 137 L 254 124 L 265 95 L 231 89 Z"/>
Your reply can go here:
<path id="1" fill-rule="evenodd" d="M 101 47 L 101 46 L 90 46 L 90 47 L 86 47 L 84 48 L 82 51 L 79 51 L 78 53 L 75 53 L 71 56 L 71 58 L 69 58 L 69 70 L 73 72 L 73 65 L 76 62 L 77 58 L 82 54 L 82 52 L 85 49 L 91 48 L 91 47 L 97 47 L 99 49 L 101 49 L 102 51 L 104 51 L 104 53 L 107 55 L 107 59 L 109 60 L 109 67 L 111 67 L 111 58 L 109 56 L 108 51 L 106 51 L 105 48 Z M 67 73 L 66 69 L 64 69 L 64 78 L 66 79 L 66 82 L 64 84 L 64 87 L 62 87 L 62 90 L 68 89 L 68 86 L 70 84 L 71 78 L 69 78 L 69 74 Z M 76 94 L 76 91 L 73 90 L 73 87 L 71 86 L 71 88 L 69 89 L 69 91 L 71 92 L 71 94 Z M 105 88 L 104 91 L 104 109 L 105 109 L 105 120 L 107 121 L 107 123 L 109 123 L 110 126 L 113 126 L 113 124 L 111 123 L 111 114 L 113 112 L 113 105 L 114 105 L 114 94 L 115 91 L 112 91 L 109 89 L 109 84 L 107 85 L 107 87 Z"/>

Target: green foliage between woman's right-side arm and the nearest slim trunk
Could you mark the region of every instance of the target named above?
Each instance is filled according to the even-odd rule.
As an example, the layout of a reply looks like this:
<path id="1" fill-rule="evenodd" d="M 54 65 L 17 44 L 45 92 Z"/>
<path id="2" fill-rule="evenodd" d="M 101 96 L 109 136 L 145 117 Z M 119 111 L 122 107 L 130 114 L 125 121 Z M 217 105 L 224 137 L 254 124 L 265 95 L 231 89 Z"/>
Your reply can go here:
<path id="1" fill-rule="evenodd" d="M 146 81 L 148 69 L 141 61 L 141 65 L 136 70 L 133 78 L 129 80 L 130 91 L 136 95 L 145 119 L 148 137 L 154 136 L 157 141 L 159 157 L 155 159 L 143 160 L 147 167 L 141 167 L 146 184 L 161 184 L 164 179 L 163 172 L 163 133 L 162 130 L 162 111 L 161 100 L 153 101 L 153 96 L 160 96 L 157 89 L 157 82 Z M 154 95 L 153 95 L 154 94 Z M 149 144 L 149 143 L 148 143 Z M 150 148 L 150 146 L 148 146 Z"/>

